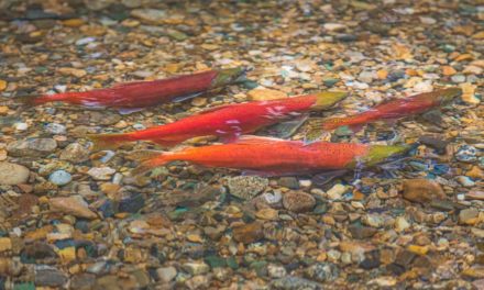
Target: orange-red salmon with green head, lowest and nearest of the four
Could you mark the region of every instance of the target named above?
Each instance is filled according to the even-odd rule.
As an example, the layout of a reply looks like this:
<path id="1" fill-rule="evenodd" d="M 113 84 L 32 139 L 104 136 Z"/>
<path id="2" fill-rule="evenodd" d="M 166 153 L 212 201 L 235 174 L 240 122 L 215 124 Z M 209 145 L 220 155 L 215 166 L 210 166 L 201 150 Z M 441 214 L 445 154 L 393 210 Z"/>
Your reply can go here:
<path id="1" fill-rule="evenodd" d="M 170 161 L 189 161 L 205 167 L 246 170 L 266 176 L 301 175 L 321 170 L 353 169 L 373 166 L 405 153 L 407 145 L 371 145 L 285 141 L 242 136 L 235 143 L 187 147 L 177 152 L 139 152 L 131 158 L 145 159 L 132 175 L 140 175 Z"/>

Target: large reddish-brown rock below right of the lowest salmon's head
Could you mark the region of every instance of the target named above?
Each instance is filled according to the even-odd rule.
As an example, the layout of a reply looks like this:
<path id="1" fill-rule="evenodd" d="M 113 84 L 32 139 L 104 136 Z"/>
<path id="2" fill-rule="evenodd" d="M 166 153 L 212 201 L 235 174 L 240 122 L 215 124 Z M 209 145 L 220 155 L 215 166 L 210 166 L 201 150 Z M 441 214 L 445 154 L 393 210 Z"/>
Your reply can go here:
<path id="1" fill-rule="evenodd" d="M 426 203 L 432 200 L 446 199 L 446 193 L 436 181 L 429 179 L 407 179 L 404 181 L 404 198 L 414 201 Z"/>

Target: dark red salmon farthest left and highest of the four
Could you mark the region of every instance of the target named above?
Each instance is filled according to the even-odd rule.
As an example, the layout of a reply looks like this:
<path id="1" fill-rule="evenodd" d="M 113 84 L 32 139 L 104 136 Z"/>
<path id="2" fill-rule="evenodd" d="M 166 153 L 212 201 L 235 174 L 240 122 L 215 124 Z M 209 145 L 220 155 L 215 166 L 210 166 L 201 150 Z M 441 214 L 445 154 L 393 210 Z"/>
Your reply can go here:
<path id="1" fill-rule="evenodd" d="M 130 113 L 155 104 L 194 98 L 240 81 L 244 72 L 243 68 L 209 70 L 153 81 L 119 83 L 108 89 L 19 99 L 31 105 L 62 101 L 94 108 L 114 108 L 122 113 Z"/>

